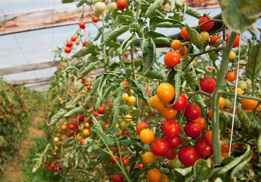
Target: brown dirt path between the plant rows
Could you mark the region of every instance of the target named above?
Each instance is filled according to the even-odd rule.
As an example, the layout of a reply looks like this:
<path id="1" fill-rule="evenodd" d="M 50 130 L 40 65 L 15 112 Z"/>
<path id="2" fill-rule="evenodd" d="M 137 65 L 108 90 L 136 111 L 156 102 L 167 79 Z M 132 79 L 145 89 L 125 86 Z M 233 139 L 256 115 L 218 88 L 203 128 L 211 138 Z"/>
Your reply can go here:
<path id="1" fill-rule="evenodd" d="M 28 130 L 27 137 L 21 143 L 20 151 L 14 155 L 13 159 L 7 165 L 8 168 L 4 172 L 5 182 L 19 182 L 20 176 L 23 173 L 23 160 L 28 156 L 30 149 L 35 145 L 32 138 L 44 137 L 45 135 L 43 130 L 38 129 L 39 126 L 46 122 L 45 116 L 46 113 L 43 111 L 40 111 L 38 115 L 35 116 Z"/>

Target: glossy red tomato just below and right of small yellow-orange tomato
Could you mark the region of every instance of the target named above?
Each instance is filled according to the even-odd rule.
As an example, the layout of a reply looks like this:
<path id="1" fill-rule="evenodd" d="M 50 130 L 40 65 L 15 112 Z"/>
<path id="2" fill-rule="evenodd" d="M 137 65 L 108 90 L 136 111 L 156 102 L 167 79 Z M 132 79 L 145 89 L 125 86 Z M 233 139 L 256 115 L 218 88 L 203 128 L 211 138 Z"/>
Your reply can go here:
<path id="1" fill-rule="evenodd" d="M 155 156 L 165 156 L 169 151 L 169 143 L 166 139 L 157 138 L 152 142 L 150 150 Z"/>

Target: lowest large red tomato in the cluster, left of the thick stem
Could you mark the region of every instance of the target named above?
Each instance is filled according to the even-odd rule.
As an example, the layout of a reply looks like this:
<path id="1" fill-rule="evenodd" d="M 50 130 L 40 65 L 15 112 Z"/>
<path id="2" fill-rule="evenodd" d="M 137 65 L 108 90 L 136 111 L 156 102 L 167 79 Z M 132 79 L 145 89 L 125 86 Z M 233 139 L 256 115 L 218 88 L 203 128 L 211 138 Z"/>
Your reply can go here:
<path id="1" fill-rule="evenodd" d="M 199 155 L 193 147 L 184 147 L 178 151 L 178 159 L 185 166 L 193 166 L 198 158 Z"/>

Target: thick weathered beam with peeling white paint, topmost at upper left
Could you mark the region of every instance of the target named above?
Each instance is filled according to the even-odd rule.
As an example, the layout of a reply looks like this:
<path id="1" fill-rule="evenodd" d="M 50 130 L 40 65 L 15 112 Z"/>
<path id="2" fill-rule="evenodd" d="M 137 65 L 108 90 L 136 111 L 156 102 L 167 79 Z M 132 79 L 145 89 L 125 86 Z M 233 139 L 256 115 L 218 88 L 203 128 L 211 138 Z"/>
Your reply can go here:
<path id="1" fill-rule="evenodd" d="M 91 9 L 51 9 L 29 13 L 7 14 L 0 17 L 0 35 L 39 30 L 78 23 L 79 17 L 90 20 Z"/>

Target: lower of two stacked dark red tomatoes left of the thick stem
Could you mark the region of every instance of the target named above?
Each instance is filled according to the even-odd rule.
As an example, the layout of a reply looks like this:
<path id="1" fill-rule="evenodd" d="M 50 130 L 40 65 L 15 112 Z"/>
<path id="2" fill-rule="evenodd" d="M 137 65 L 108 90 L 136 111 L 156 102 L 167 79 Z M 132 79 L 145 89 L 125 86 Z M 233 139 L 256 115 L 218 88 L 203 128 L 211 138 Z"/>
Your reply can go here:
<path id="1" fill-rule="evenodd" d="M 190 138 L 199 137 L 201 134 L 201 131 L 202 131 L 202 129 L 201 129 L 200 125 L 195 121 L 189 121 L 184 126 L 184 132 Z"/>

